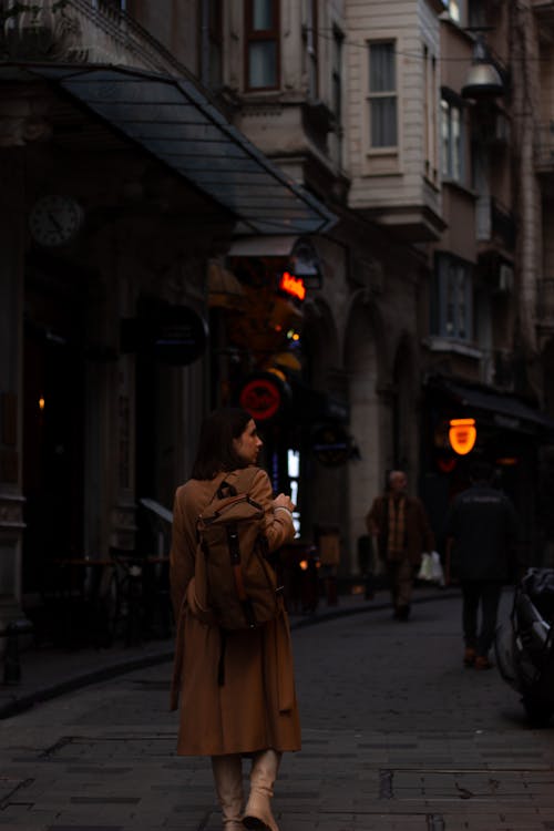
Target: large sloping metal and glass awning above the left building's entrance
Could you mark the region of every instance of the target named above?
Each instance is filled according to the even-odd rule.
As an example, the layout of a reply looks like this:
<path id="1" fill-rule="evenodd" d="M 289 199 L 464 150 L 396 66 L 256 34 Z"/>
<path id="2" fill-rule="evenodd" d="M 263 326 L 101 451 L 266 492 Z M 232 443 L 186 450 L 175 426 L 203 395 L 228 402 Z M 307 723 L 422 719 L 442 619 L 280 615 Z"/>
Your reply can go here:
<path id="1" fill-rule="evenodd" d="M 237 217 L 237 233 L 316 234 L 337 222 L 229 124 L 191 80 L 99 64 L 11 68 L 60 84 L 226 207 Z"/>

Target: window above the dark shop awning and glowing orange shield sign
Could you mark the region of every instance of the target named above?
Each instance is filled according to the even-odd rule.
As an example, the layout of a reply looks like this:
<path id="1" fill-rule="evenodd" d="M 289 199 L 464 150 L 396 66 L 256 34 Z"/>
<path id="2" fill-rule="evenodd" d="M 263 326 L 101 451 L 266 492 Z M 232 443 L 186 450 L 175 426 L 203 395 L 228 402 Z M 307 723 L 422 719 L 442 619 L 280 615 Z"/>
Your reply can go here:
<path id="1" fill-rule="evenodd" d="M 449 254 L 435 261 L 431 322 L 433 334 L 454 340 L 473 337 L 472 266 Z"/>

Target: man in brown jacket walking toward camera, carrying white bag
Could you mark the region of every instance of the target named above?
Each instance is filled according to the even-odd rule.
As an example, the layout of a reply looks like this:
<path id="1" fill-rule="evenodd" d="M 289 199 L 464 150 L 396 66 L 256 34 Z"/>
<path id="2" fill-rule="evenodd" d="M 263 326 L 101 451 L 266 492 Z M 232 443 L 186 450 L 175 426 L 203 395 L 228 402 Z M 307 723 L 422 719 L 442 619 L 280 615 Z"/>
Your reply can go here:
<path id="1" fill-rule="evenodd" d="M 394 617 L 408 620 L 416 570 L 422 553 L 434 548 L 434 535 L 420 500 L 408 496 L 404 471 L 391 471 L 388 482 L 388 490 L 373 500 L 366 524 L 387 571 Z"/>

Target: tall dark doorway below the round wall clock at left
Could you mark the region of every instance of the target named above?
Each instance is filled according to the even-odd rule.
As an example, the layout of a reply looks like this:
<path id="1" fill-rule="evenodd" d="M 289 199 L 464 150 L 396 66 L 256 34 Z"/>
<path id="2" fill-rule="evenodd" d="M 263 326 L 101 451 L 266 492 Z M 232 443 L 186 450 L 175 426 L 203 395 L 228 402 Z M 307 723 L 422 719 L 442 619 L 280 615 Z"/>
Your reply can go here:
<path id="1" fill-rule="evenodd" d="M 66 312 L 69 317 L 69 312 Z M 76 327 L 71 320 L 71 328 Z M 23 593 L 40 591 L 49 560 L 83 545 L 84 355 L 61 329 L 25 321 Z"/>

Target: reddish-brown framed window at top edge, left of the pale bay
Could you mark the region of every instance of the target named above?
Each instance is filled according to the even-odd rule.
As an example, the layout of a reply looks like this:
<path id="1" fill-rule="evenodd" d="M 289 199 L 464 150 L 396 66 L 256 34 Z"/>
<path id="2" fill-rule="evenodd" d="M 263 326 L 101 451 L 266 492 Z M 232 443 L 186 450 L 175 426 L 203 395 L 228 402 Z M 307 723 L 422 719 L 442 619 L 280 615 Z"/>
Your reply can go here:
<path id="1" fill-rule="evenodd" d="M 246 0 L 246 89 L 279 86 L 279 2 Z"/>

